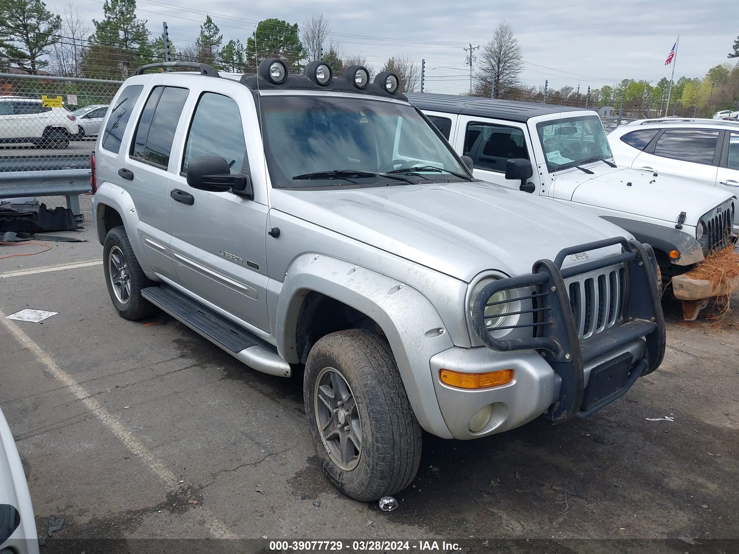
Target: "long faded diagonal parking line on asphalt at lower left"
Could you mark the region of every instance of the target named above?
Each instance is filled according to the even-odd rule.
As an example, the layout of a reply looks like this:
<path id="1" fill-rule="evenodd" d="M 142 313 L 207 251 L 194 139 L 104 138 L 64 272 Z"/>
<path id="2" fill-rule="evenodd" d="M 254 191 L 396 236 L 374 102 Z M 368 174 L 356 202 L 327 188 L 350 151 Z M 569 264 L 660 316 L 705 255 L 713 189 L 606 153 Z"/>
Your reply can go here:
<path id="1" fill-rule="evenodd" d="M 100 420 L 101 423 L 105 425 L 118 440 L 120 440 L 120 442 L 123 442 L 123 445 L 126 446 L 131 454 L 138 456 L 144 463 L 146 463 L 151 471 L 153 471 L 154 474 L 164 482 L 164 485 L 166 485 L 168 490 L 178 490 L 183 488 L 183 485 L 180 485 L 180 480 L 177 479 L 177 476 L 172 473 L 160 459 L 157 459 L 153 454 L 151 454 L 151 452 L 146 449 L 146 446 L 132 436 L 131 432 L 126 429 L 123 423 L 120 423 L 118 419 L 106 411 L 98 400 L 95 400 L 95 398 L 92 397 L 92 395 L 86 391 L 83 386 L 77 383 L 71 375 L 65 372 L 64 369 L 61 369 L 53 358 L 44 352 L 44 349 L 42 349 L 41 346 L 38 346 L 32 338 L 26 335 L 18 325 L 13 323 L 13 321 L 5 319 L 5 314 L 2 310 L 0 310 L 0 323 L 10 331 L 10 334 L 13 335 L 19 343 L 33 352 L 36 359 L 46 366 L 50 374 L 64 384 L 64 386 L 67 386 L 67 388 L 72 391 L 72 394 L 74 394 L 89 411 L 95 414 L 95 416 L 98 417 L 98 420 Z M 198 507 L 198 516 L 205 521 L 208 531 L 210 531 L 211 535 L 215 538 L 239 538 L 234 530 L 214 516 L 208 508 L 204 506 Z"/>

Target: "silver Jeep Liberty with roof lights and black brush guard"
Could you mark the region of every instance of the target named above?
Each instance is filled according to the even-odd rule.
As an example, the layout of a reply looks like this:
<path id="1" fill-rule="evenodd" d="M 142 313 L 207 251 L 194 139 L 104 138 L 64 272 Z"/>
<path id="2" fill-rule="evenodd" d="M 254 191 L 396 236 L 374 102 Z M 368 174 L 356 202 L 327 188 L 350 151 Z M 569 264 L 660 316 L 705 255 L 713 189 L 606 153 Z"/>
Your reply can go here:
<path id="1" fill-rule="evenodd" d="M 200 71 L 146 73 L 166 66 Z M 321 61 L 143 66 L 91 160 L 115 309 L 164 310 L 261 372 L 304 369 L 321 467 L 363 501 L 409 485 L 421 429 L 586 417 L 665 347 L 649 245 L 475 179 L 398 83 Z"/>

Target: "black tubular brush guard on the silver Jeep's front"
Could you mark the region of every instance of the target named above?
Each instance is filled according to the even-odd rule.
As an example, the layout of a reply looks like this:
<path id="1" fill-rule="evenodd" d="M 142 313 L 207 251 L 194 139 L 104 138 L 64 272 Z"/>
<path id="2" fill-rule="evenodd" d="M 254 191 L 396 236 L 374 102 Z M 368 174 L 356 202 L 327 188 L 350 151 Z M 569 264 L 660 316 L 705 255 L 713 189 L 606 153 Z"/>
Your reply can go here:
<path id="1" fill-rule="evenodd" d="M 565 267 L 562 262 L 571 254 L 588 252 L 621 244 L 621 253 L 611 254 L 603 259 L 587 261 L 584 264 Z M 610 267 L 624 264 L 625 287 L 621 323 L 580 341 L 575 318 L 570 305 L 565 279 Z M 664 315 L 657 291 L 657 262 L 654 251 L 649 244 L 641 244 L 635 240 L 627 241 L 624 237 L 614 237 L 596 242 L 588 242 L 579 246 L 568 247 L 557 254 L 554 261 L 539 260 L 534 264 L 531 275 L 498 279 L 486 285 L 477 295 L 472 306 L 472 325 L 481 341 L 489 348 L 499 352 L 511 350 L 534 349 L 542 354 L 549 365 L 562 379 L 559 399 L 549 408 L 546 417 L 553 423 L 562 423 L 573 417 L 587 417 L 616 398 L 621 397 L 642 375 L 653 372 L 664 357 L 665 332 Z M 491 302 L 490 298 L 502 290 L 534 287 L 534 293 L 526 293 L 517 298 Z M 533 323 L 499 326 L 498 329 L 514 329 L 533 327 L 531 338 L 500 340 L 494 338 L 486 328 L 488 306 L 505 304 L 513 301 L 525 301 L 531 298 L 531 308 L 508 315 L 531 313 Z M 586 363 L 613 352 L 636 339 L 646 339 L 646 349 L 641 360 L 634 360 L 624 386 L 613 391 L 605 398 L 588 402 L 583 406 L 585 397 L 585 377 L 583 368 Z M 591 384 L 596 369 L 591 370 Z M 590 386 L 590 384 L 589 384 Z M 592 391 L 590 391 L 592 392 Z M 588 394 L 588 398 L 597 395 Z"/>

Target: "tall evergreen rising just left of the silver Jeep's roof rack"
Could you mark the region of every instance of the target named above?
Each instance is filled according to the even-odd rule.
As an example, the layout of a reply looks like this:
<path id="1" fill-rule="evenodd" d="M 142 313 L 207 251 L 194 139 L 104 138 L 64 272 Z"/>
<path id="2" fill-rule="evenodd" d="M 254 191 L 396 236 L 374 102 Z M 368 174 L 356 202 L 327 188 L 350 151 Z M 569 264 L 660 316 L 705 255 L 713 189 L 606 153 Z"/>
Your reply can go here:
<path id="1" fill-rule="evenodd" d="M 146 20 L 136 17 L 136 0 L 106 0 L 103 21 L 92 20 L 93 43 L 85 52 L 85 75 L 128 78 L 132 69 L 151 63 Z"/>

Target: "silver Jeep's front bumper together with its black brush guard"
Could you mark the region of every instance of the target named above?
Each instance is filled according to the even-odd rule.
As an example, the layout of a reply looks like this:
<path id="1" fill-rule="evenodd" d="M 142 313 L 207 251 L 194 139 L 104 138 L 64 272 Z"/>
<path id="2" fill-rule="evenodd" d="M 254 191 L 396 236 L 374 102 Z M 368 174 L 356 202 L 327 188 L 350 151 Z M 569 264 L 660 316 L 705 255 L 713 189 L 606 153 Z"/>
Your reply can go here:
<path id="1" fill-rule="evenodd" d="M 621 244 L 620 254 L 561 269 L 566 256 L 615 244 Z M 581 339 L 565 279 L 618 264 L 623 264 L 626 290 L 619 323 Z M 520 290 L 518 299 L 531 298 L 530 308 L 518 313 L 531 313 L 534 319 L 497 329 L 531 326 L 534 336 L 493 338 L 485 324 L 486 319 L 496 317 L 485 315 L 488 301 L 501 290 L 514 289 Z M 553 423 L 586 417 L 621 397 L 664 357 L 664 316 L 654 253 L 649 245 L 622 237 L 562 250 L 555 261 L 537 261 L 531 275 L 486 285 L 474 301 L 472 321 L 487 348 L 452 348 L 430 360 L 440 410 L 449 430 L 460 439 L 515 428 L 539 414 Z M 467 373 L 514 369 L 514 380 L 491 389 L 456 389 L 440 382 L 440 369 Z M 488 404 L 492 415 L 487 425 L 471 432 L 470 418 Z"/>

